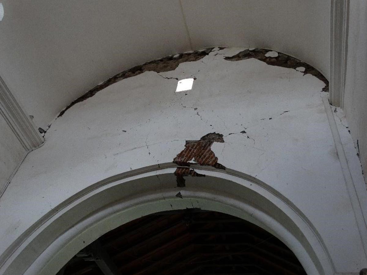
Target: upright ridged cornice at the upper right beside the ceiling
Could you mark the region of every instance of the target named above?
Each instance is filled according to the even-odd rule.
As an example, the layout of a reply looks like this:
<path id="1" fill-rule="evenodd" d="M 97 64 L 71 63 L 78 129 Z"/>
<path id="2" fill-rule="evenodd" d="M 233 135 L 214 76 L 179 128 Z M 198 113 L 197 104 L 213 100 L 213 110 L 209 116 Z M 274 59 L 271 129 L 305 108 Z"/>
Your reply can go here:
<path id="1" fill-rule="evenodd" d="M 348 51 L 349 0 L 331 1 L 330 103 L 343 107 Z"/>

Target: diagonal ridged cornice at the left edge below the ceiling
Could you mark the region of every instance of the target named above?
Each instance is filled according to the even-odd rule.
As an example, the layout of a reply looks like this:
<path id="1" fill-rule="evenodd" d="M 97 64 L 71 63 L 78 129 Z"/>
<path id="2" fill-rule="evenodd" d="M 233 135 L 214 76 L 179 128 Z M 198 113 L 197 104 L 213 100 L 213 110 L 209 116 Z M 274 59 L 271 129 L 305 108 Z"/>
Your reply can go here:
<path id="1" fill-rule="evenodd" d="M 44 139 L 34 128 L 29 116 L 24 113 L 17 100 L 0 76 L 0 114 L 26 151 L 40 146 Z"/>

